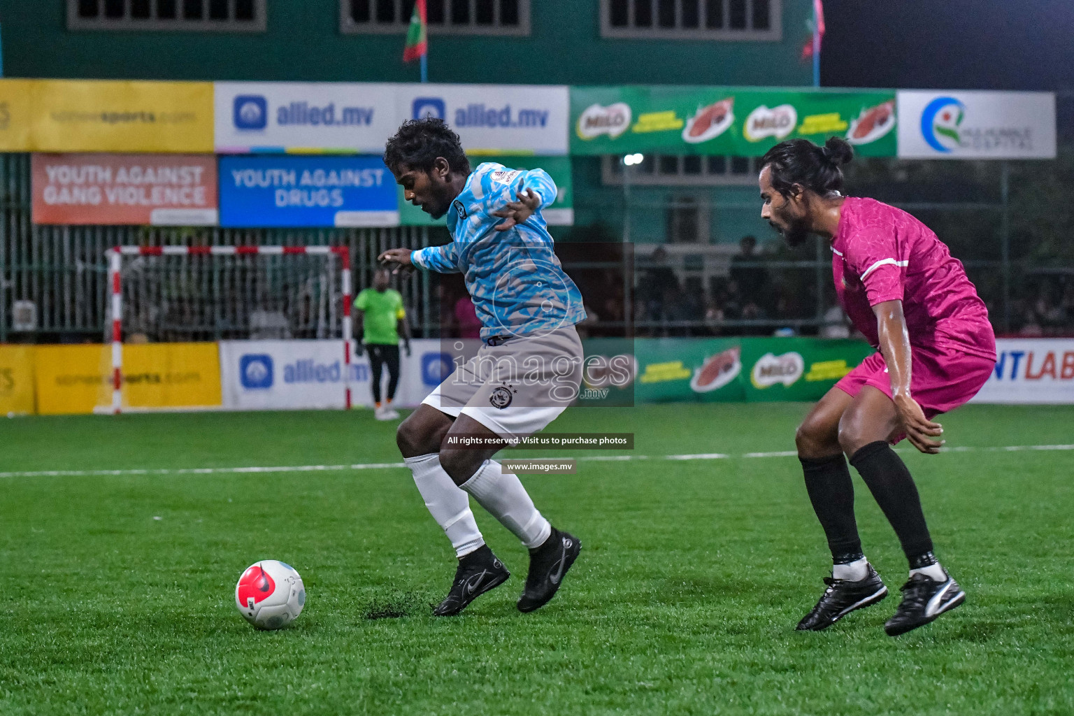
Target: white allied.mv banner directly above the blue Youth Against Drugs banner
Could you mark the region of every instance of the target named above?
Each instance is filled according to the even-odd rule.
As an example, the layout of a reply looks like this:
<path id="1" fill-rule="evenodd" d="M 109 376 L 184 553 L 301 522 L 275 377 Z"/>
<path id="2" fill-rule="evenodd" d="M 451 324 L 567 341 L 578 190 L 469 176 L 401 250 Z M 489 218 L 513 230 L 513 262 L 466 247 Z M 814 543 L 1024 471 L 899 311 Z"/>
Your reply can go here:
<path id="1" fill-rule="evenodd" d="M 260 151 L 380 155 L 398 129 L 396 85 L 218 82 L 218 154 Z"/>

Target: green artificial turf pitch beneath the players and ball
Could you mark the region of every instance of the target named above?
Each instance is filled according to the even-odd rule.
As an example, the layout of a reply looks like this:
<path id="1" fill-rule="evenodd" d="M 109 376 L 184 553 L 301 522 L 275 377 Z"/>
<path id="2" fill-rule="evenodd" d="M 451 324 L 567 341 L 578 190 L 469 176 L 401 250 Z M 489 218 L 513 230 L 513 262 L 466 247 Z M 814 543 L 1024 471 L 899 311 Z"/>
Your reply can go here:
<path id="1" fill-rule="evenodd" d="M 514 609 L 525 550 L 475 506 L 513 576 L 431 616 L 454 562 L 404 469 L 0 477 L 0 714 L 1074 713 L 1074 452 L 902 453 L 968 599 L 898 639 L 882 625 L 905 565 L 855 478 L 892 596 L 797 633 L 824 538 L 797 459 L 742 455 L 793 450 L 807 409 L 565 413 L 550 429 L 632 432 L 653 459 L 524 479 L 584 545 L 529 615 Z M 952 447 L 1074 442 L 1071 407 L 943 422 Z M 730 457 L 655 459 L 682 453 Z M 612 453 L 568 456 L 594 454 Z M 0 472 L 397 461 L 393 425 L 367 411 L 0 423 Z M 278 632 L 234 607 L 259 558 L 308 590 Z"/>

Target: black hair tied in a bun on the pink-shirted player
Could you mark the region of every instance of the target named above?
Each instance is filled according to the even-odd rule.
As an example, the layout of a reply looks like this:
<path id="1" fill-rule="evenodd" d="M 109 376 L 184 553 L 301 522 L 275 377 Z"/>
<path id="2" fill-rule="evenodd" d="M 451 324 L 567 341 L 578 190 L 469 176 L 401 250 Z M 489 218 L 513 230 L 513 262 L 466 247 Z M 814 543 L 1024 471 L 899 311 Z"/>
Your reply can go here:
<path id="1" fill-rule="evenodd" d="M 795 185 L 822 196 L 843 189 L 843 164 L 854 159 L 854 149 L 838 136 L 823 147 L 809 140 L 780 142 L 760 159 L 771 172 L 772 188 L 784 196 L 795 193 Z"/>

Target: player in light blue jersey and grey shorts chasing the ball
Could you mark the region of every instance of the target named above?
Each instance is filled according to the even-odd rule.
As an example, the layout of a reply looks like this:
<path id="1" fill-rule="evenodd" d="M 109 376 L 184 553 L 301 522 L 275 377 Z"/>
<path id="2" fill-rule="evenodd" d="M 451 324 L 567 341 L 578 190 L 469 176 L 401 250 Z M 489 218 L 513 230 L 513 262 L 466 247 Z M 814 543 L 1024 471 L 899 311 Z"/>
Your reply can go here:
<path id="1" fill-rule="evenodd" d="M 553 527 L 518 476 L 493 458 L 508 439 L 555 420 L 581 383 L 584 351 L 575 324 L 585 318 L 582 297 L 541 215 L 555 201 L 555 184 L 541 170 L 492 162 L 470 172 L 459 135 L 435 118 L 404 122 L 384 146 L 384 163 L 406 201 L 447 217 L 452 242 L 389 249 L 379 260 L 395 271 L 463 274 L 484 341 L 395 434 L 426 509 L 459 558 L 433 613 L 459 614 L 510 576 L 484 543 L 469 497 L 529 551 L 518 609 L 532 612 L 560 589 L 581 542 Z"/>

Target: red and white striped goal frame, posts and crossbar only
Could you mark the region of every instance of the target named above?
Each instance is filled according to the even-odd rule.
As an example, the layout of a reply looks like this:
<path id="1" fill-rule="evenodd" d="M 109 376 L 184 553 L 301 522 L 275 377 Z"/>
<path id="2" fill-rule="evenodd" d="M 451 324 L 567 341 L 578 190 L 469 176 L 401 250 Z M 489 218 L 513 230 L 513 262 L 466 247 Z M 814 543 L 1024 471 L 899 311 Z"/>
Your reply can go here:
<path id="1" fill-rule="evenodd" d="M 116 246 L 105 251 L 108 257 L 108 286 L 112 287 L 112 413 L 122 410 L 124 328 L 122 328 L 122 259 L 124 257 L 160 255 L 329 255 L 336 254 L 340 262 L 343 287 L 343 362 L 344 406 L 351 408 L 350 399 L 350 342 L 352 323 L 350 315 L 350 251 L 345 246 Z"/>

